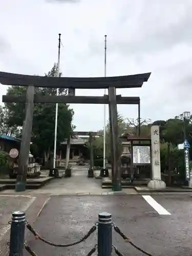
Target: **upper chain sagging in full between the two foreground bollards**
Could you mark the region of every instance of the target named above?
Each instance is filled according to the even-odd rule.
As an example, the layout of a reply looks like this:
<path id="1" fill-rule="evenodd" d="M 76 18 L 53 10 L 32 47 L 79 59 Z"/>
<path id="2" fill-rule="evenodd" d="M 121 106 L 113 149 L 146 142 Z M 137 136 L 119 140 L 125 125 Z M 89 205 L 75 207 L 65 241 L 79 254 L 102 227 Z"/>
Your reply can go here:
<path id="1" fill-rule="evenodd" d="M 84 236 L 83 238 L 81 238 L 79 241 L 73 242 L 73 243 L 71 243 L 71 244 L 55 244 L 55 243 L 53 243 L 53 242 L 50 242 L 50 241 L 46 240 L 45 238 L 42 238 L 42 237 L 32 228 L 32 226 L 31 226 L 28 222 L 26 223 L 26 226 L 27 226 L 27 228 L 34 234 L 36 240 L 39 239 L 40 241 L 42 241 L 42 242 L 44 242 L 44 243 L 46 243 L 46 244 L 55 246 L 55 247 L 69 247 L 69 246 L 73 246 L 73 245 L 76 245 L 76 244 L 80 244 L 81 242 L 83 242 L 83 241 L 85 241 L 86 239 L 88 239 L 88 238 L 91 236 L 91 234 L 96 230 L 96 228 L 97 228 L 97 223 L 95 223 L 95 224 L 92 226 L 92 228 L 89 230 L 89 232 L 86 234 L 86 236 Z"/>

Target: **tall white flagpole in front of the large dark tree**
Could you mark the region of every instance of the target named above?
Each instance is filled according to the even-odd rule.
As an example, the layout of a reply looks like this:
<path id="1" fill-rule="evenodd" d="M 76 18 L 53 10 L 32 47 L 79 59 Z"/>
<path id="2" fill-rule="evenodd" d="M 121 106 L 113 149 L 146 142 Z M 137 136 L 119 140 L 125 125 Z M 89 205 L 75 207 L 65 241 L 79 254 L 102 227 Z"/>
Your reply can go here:
<path id="1" fill-rule="evenodd" d="M 60 35 L 59 34 L 59 45 L 58 45 L 58 61 L 57 61 L 57 77 L 59 77 L 59 67 L 60 67 Z M 59 89 L 57 88 L 56 95 L 59 94 Z M 57 146 L 57 117 L 58 117 L 58 103 L 56 103 L 55 109 L 55 140 L 54 140 L 54 153 L 53 153 L 53 168 L 55 168 L 56 161 L 56 146 Z"/>

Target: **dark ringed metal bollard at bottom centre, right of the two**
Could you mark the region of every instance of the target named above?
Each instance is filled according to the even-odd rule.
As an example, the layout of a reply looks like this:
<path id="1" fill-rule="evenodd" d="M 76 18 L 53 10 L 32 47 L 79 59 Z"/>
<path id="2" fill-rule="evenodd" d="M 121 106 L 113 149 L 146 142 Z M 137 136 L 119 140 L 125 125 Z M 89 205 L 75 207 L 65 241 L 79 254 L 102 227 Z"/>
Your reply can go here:
<path id="1" fill-rule="evenodd" d="M 112 218 L 108 212 L 99 214 L 98 222 L 98 256 L 112 254 Z"/>

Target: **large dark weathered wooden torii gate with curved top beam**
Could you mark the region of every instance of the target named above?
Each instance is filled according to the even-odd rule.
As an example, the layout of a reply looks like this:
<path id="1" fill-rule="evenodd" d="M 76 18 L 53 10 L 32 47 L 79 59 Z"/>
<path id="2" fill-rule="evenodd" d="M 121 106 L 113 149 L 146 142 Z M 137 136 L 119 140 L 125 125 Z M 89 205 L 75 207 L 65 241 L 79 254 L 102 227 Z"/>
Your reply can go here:
<path id="1" fill-rule="evenodd" d="M 117 104 L 138 104 L 140 121 L 140 98 L 121 97 L 116 95 L 116 88 L 141 88 L 151 73 L 114 76 L 114 77 L 46 77 L 30 76 L 0 72 L 0 83 L 12 86 L 25 86 L 27 93 L 23 96 L 3 95 L 3 102 L 26 103 L 26 115 L 23 125 L 22 142 L 19 153 L 19 167 L 15 190 L 25 191 L 27 178 L 28 153 L 30 148 L 34 103 L 92 103 L 109 104 L 111 153 L 112 153 L 112 184 L 113 190 L 121 190 L 121 174 L 118 164 L 118 125 Z M 69 89 L 68 96 L 35 95 L 35 87 Z M 109 95 L 75 96 L 75 89 L 108 89 Z"/>

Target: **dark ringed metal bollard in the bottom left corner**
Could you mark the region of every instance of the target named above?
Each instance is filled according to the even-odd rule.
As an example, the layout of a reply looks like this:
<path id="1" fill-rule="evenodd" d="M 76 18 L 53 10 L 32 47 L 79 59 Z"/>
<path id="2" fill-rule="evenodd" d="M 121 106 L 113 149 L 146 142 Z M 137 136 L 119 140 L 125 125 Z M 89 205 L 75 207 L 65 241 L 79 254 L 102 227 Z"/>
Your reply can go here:
<path id="1" fill-rule="evenodd" d="M 12 213 L 9 256 L 23 256 L 26 215 L 24 211 Z"/>

